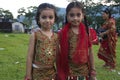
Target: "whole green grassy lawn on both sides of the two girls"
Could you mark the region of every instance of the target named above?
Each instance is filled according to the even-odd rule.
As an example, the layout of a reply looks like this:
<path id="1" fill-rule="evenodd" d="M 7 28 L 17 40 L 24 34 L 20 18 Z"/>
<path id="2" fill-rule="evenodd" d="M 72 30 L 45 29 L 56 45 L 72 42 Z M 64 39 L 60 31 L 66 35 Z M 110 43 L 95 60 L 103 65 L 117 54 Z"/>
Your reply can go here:
<path id="1" fill-rule="evenodd" d="M 0 80 L 23 80 L 25 75 L 28 34 L 0 33 Z M 120 38 L 117 42 L 117 68 L 104 69 L 104 62 L 97 57 L 99 46 L 93 46 L 98 80 L 120 80 Z"/>

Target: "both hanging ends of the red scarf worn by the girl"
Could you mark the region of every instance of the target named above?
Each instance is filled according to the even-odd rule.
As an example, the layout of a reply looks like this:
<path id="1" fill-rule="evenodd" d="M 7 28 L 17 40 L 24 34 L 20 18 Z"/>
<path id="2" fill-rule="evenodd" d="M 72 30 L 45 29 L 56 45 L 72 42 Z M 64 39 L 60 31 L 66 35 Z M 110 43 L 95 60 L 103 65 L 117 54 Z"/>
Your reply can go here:
<path id="1" fill-rule="evenodd" d="M 68 66 L 68 32 L 70 24 L 66 24 L 59 32 L 61 52 L 58 55 L 58 80 L 66 80 L 69 74 Z M 79 25 L 79 35 L 76 50 L 73 56 L 73 62 L 76 64 L 84 64 L 88 62 L 88 35 L 83 23 Z"/>

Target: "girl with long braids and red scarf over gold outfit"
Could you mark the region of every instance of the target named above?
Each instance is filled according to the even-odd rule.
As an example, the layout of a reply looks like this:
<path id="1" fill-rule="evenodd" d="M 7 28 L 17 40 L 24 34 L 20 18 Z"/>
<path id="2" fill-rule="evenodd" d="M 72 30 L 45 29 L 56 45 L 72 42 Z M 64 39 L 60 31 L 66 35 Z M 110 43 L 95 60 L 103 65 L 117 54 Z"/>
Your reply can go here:
<path id="1" fill-rule="evenodd" d="M 71 2 L 66 8 L 66 24 L 59 32 L 61 52 L 58 57 L 59 80 L 96 80 L 95 66 L 89 41 L 89 30 L 82 23 L 84 8 Z"/>

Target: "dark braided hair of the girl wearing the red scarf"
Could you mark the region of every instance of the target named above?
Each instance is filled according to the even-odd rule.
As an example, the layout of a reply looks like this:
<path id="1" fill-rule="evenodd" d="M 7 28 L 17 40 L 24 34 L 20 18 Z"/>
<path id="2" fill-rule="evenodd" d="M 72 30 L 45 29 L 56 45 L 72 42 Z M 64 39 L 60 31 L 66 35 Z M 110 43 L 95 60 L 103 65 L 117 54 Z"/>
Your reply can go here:
<path id="1" fill-rule="evenodd" d="M 73 2 L 68 4 L 68 6 L 66 8 L 66 22 L 65 23 L 68 23 L 68 21 L 67 21 L 68 12 L 71 10 L 71 8 L 74 8 L 74 7 L 81 9 L 82 13 L 84 13 L 84 24 L 86 26 L 86 32 L 89 34 L 87 18 L 86 18 L 86 15 L 85 15 L 85 9 L 84 9 L 84 5 L 83 5 L 82 2 L 73 1 Z"/>

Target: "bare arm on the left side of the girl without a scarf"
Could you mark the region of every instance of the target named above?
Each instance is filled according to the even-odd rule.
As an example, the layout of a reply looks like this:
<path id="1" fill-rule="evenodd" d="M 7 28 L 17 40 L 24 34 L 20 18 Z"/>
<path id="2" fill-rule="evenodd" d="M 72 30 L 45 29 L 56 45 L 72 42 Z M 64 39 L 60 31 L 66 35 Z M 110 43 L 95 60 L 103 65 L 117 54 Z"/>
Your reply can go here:
<path id="1" fill-rule="evenodd" d="M 34 54 L 34 45 L 35 45 L 35 33 L 32 33 L 29 40 L 28 53 L 27 53 L 27 61 L 26 61 L 26 76 L 25 80 L 31 80 L 31 72 L 32 72 L 32 61 Z"/>

